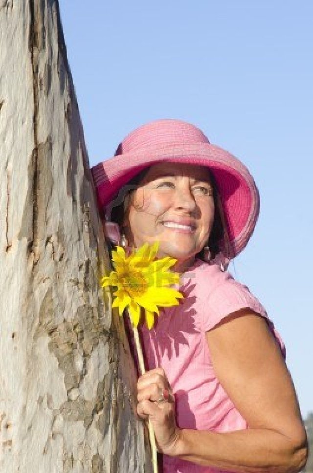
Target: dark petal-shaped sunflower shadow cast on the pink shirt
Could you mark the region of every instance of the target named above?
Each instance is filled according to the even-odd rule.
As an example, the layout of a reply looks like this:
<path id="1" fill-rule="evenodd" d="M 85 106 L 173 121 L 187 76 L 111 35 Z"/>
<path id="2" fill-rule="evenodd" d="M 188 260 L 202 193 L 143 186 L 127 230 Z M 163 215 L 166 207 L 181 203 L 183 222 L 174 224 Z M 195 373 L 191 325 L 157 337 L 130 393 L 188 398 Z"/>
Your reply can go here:
<path id="1" fill-rule="evenodd" d="M 168 359 L 172 359 L 174 353 L 179 355 L 181 345 L 188 346 L 188 338 L 186 334 L 197 334 L 199 330 L 195 323 L 196 311 L 193 305 L 196 296 L 191 296 L 195 284 L 188 281 L 179 288 L 184 299 L 179 306 L 172 307 L 167 313 L 161 314 L 166 317 L 165 320 L 158 319 L 155 324 L 156 330 L 152 334 L 156 338 L 159 347 L 157 354 L 158 362 L 161 363 L 161 356 L 166 355 Z"/>

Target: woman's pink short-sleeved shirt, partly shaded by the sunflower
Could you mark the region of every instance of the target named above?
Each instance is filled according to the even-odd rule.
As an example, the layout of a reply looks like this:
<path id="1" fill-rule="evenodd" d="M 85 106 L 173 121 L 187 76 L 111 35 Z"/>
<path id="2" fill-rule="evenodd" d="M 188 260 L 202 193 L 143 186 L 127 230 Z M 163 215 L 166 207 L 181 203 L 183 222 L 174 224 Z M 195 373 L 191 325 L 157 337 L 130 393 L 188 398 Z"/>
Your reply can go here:
<path id="1" fill-rule="evenodd" d="M 217 264 L 197 260 L 182 283 L 185 298 L 181 304 L 163 310 L 152 330 L 140 329 L 147 368 L 165 370 L 175 395 L 179 427 L 215 432 L 246 429 L 245 419 L 215 376 L 205 333 L 225 316 L 248 307 L 268 320 L 284 352 L 283 343 L 257 299 Z M 221 471 L 166 455 L 162 461 L 163 473 Z"/>

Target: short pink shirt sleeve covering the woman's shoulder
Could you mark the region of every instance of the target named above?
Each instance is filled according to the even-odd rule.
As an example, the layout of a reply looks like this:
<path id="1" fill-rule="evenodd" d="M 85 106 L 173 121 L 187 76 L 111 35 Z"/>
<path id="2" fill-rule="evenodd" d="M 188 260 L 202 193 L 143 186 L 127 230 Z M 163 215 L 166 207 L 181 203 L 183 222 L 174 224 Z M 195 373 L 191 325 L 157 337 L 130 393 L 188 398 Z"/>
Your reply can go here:
<path id="1" fill-rule="evenodd" d="M 227 315 L 237 310 L 248 308 L 264 317 L 276 338 L 283 355 L 285 346 L 272 321 L 258 299 L 243 284 L 235 281 L 230 273 L 224 273 L 224 280 L 209 294 L 206 301 L 204 330 L 209 331 Z"/>

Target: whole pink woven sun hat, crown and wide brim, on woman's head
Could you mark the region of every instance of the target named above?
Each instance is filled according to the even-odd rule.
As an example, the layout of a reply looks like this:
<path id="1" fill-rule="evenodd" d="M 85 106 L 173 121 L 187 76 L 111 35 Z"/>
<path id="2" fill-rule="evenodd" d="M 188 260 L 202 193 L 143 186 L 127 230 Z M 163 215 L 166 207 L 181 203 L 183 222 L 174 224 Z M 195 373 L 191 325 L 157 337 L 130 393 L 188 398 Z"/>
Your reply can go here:
<path id="1" fill-rule="evenodd" d="M 114 157 L 92 167 L 99 207 L 107 207 L 143 169 L 162 161 L 209 168 L 224 210 L 233 253 L 230 257 L 238 255 L 258 218 L 256 184 L 239 159 L 211 144 L 199 128 L 184 121 L 157 120 L 140 126 L 119 144 Z"/>

